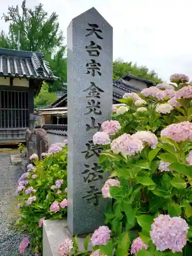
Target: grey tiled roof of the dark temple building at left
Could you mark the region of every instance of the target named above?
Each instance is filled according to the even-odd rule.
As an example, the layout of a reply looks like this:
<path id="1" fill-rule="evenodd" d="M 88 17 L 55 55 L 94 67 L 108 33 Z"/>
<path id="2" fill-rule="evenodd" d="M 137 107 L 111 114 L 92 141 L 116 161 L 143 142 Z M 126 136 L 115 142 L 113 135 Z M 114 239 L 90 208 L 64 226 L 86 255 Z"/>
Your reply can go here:
<path id="1" fill-rule="evenodd" d="M 0 48 L 0 76 L 59 80 L 42 53 L 5 48 Z"/>

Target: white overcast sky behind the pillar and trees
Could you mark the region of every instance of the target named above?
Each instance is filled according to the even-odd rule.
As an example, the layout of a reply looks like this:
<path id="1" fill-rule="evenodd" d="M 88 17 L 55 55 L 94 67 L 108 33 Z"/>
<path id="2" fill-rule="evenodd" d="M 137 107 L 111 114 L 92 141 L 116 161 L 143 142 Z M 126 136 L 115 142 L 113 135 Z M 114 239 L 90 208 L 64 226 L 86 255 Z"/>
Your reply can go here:
<path id="1" fill-rule="evenodd" d="M 2 2 L 0 13 L 22 0 Z M 137 62 L 164 80 L 172 73 L 192 80 L 191 0 L 27 0 L 31 7 L 38 3 L 57 12 L 65 36 L 73 17 L 95 7 L 113 26 L 114 60 Z M 0 29 L 7 30 L 3 20 Z"/>

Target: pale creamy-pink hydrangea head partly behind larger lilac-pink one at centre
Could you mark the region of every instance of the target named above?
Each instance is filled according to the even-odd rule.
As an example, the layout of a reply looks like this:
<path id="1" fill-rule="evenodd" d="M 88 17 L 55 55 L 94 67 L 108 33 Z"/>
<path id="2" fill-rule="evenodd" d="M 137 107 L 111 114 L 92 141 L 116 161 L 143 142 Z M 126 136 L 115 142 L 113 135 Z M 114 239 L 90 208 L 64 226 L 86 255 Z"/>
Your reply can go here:
<path id="1" fill-rule="evenodd" d="M 157 136 L 150 131 L 140 131 L 132 135 L 132 138 L 146 142 L 151 148 L 156 148 L 158 144 Z"/>

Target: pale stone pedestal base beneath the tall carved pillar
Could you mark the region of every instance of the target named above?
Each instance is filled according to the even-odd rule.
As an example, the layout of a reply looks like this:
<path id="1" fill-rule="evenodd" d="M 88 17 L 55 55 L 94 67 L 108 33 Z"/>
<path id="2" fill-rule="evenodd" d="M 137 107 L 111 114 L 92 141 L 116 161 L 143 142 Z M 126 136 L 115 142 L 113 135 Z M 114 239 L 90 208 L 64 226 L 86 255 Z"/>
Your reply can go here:
<path id="1" fill-rule="evenodd" d="M 83 250 L 84 238 L 86 237 L 87 235 L 78 237 L 80 250 Z M 67 219 L 44 220 L 42 241 L 43 256 L 58 256 L 59 244 L 65 239 L 72 239 L 70 231 L 68 230 Z M 91 250 L 91 244 L 89 244 L 89 250 Z"/>

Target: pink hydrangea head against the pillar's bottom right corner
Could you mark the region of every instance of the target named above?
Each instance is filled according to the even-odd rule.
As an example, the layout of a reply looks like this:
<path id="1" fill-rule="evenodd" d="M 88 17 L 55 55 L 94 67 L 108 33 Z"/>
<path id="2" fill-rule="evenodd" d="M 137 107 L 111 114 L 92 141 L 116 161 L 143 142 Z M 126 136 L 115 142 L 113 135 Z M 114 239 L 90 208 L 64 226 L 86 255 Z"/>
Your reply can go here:
<path id="1" fill-rule="evenodd" d="M 110 240 L 111 230 L 108 226 L 100 226 L 93 233 L 91 238 L 92 244 L 95 245 L 106 245 Z"/>

